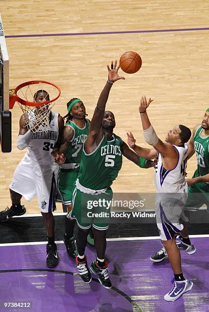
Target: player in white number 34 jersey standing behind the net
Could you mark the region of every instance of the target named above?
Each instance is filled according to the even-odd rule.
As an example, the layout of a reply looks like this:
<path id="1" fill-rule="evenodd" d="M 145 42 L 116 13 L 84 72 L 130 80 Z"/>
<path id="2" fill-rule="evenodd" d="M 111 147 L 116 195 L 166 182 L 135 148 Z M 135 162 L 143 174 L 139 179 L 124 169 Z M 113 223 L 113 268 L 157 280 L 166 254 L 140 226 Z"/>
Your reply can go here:
<path id="1" fill-rule="evenodd" d="M 48 101 L 49 95 L 46 91 L 39 90 L 34 95 L 34 100 L 40 103 Z M 44 109 L 47 110 L 48 106 Z M 49 268 L 54 268 L 59 262 L 53 216 L 53 211 L 56 210 L 55 195 L 59 165 L 54 162 L 51 152 L 54 147 L 60 145 L 64 120 L 58 113 L 50 112 L 47 128 L 44 129 L 41 124 L 34 123 L 33 117 L 31 117 L 30 129 L 28 129 L 24 126 L 24 115 L 22 115 L 19 126 L 17 147 L 20 150 L 28 147 L 28 151 L 17 166 L 9 186 L 12 206 L 0 213 L 0 221 L 7 221 L 13 216 L 25 214 L 25 207 L 20 203 L 22 196 L 26 200 L 37 196 L 48 238 L 46 265 Z M 34 130 L 36 131 L 33 132 Z"/>

